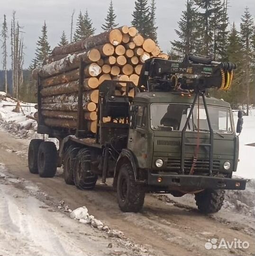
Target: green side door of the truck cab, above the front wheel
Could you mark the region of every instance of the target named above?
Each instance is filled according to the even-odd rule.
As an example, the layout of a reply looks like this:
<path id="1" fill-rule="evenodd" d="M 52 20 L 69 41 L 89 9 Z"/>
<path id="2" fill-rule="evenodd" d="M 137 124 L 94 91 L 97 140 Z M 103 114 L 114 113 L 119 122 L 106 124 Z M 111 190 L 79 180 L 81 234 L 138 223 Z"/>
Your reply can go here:
<path id="1" fill-rule="evenodd" d="M 147 107 L 137 106 L 134 126 L 129 130 L 127 147 L 136 155 L 140 168 L 146 168 L 147 160 Z"/>

